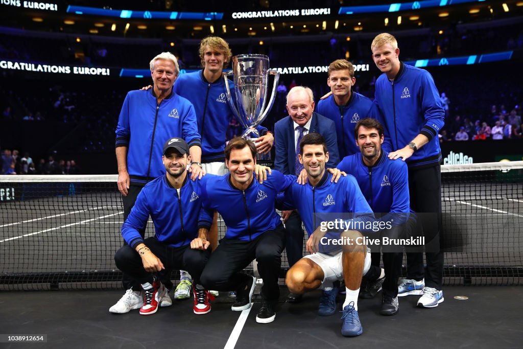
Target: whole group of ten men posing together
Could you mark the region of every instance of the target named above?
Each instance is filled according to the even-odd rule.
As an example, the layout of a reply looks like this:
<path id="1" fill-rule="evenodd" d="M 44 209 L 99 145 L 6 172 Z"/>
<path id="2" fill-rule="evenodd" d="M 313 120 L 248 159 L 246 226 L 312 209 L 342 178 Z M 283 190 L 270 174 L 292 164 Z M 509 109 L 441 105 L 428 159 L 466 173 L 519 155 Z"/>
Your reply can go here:
<path id="1" fill-rule="evenodd" d="M 417 304 L 427 308 L 444 300 L 439 249 L 426 253 L 426 268 L 422 253 L 407 253 L 407 279 L 398 286 L 402 252 L 384 252 L 381 269 L 380 251 L 371 257 L 365 244 L 354 243 L 362 231 L 340 232 L 339 238 L 353 243 L 329 249 L 316 221 L 317 213 L 329 212 L 354 213 L 359 220 L 375 219 L 373 212 L 441 212 L 437 134 L 445 112 L 434 80 L 399 60 L 396 39 L 388 33 L 378 35 L 371 50 L 383 73 L 374 102 L 351 91 L 354 67 L 336 60 L 328 68 L 332 95 L 320 100 L 317 112 L 310 88 L 294 87 L 287 95 L 289 116 L 275 124 L 274 136 L 259 127 L 262 136 L 255 143 L 235 138 L 226 146 L 233 116 L 220 96 L 222 70 L 231 59 L 228 44 L 218 37 L 203 39 L 203 69 L 179 77 L 174 55 L 164 52 L 150 62 L 154 85 L 128 93 L 116 131 L 126 244 L 115 261 L 127 291 L 111 312 L 140 309 L 147 315 L 172 305 L 167 277 L 172 269 L 181 269 L 180 291 L 192 290 L 196 314 L 210 311 L 209 290 L 235 291 L 232 310 L 248 309 L 256 278 L 242 271 L 256 260 L 263 278 L 256 321 L 272 322 L 283 249 L 290 265 L 289 302 L 320 288 L 318 313 L 332 315 L 338 284 L 345 283 L 345 336 L 362 333 L 358 296 L 370 298 L 383 288 L 384 315 L 399 311 L 399 296 L 421 295 Z M 267 174 L 256 165 L 256 154 L 273 145 L 274 170 Z M 216 212 L 227 227 L 219 245 Z M 155 235 L 145 239 L 149 217 Z M 437 214 L 419 220 L 416 227 L 439 238 Z M 302 222 L 309 233 L 305 257 Z"/>

